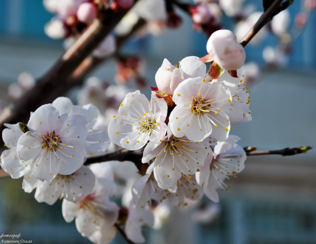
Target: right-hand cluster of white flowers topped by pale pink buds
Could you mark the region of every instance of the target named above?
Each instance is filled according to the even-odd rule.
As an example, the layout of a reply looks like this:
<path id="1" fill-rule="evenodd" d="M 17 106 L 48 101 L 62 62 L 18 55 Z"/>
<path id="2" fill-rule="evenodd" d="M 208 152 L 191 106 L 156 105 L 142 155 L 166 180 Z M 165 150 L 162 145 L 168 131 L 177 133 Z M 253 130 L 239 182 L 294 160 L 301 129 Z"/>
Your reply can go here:
<path id="1" fill-rule="evenodd" d="M 211 71 L 213 64 L 221 69 L 217 79 L 206 74 L 198 57 L 182 59 L 179 67 L 165 59 L 150 99 L 140 91 L 128 93 L 108 126 L 115 144 L 143 148 L 148 168 L 132 187 L 138 213 L 164 199 L 183 207 L 204 193 L 218 202 L 216 189 L 227 190 L 225 179 L 244 169 L 246 153 L 229 131 L 252 119 L 250 91 L 241 75 L 245 53 L 228 30 L 215 32 L 207 50 L 212 50 L 206 56 Z"/>

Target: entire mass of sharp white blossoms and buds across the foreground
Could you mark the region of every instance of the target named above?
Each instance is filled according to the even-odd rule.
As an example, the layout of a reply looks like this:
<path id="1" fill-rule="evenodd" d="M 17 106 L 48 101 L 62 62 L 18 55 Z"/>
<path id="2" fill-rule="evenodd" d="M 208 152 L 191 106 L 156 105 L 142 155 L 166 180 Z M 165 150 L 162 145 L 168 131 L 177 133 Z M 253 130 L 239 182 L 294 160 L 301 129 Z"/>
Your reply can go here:
<path id="1" fill-rule="evenodd" d="M 204 193 L 218 202 L 216 190 L 227 190 L 225 180 L 244 169 L 240 138 L 229 135 L 231 125 L 252 119 L 238 45 L 228 30 L 210 37 L 202 60 L 211 60 L 216 79 L 198 57 L 183 58 L 179 67 L 165 59 L 150 99 L 139 90 L 128 93 L 108 126 L 98 123 L 92 104 L 73 105 L 65 97 L 39 107 L 27 125 L 5 124 L 1 167 L 12 178 L 23 176 L 22 188 L 36 189 L 37 201 L 63 199 L 66 222 L 75 219 L 92 242 L 112 241 L 122 224 L 131 241 L 144 242 L 142 226 L 153 226 L 153 209 L 166 201 L 184 208 Z M 143 164 L 84 166 L 87 156 L 108 148 L 109 138 L 127 150 L 143 149 Z"/>

